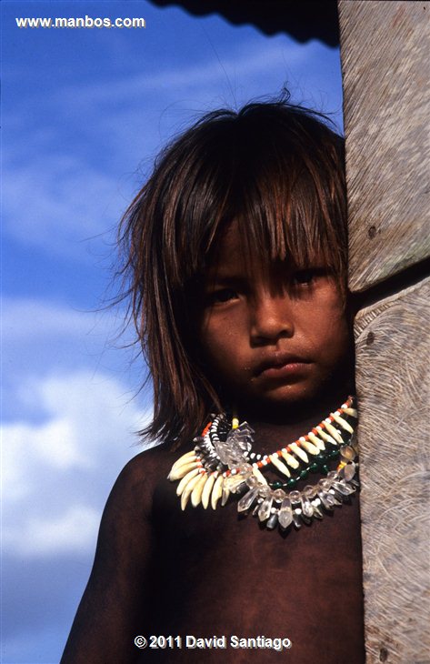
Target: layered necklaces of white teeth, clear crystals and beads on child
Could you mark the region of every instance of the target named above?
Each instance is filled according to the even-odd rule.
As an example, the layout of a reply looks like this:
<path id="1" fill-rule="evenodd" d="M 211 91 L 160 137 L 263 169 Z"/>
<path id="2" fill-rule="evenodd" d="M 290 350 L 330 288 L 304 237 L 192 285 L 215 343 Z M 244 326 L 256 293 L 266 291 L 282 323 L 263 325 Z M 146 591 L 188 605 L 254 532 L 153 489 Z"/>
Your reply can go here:
<path id="1" fill-rule="evenodd" d="M 248 514 L 252 509 L 266 528 L 301 528 L 340 507 L 358 488 L 356 418 L 355 399 L 348 397 L 305 436 L 262 456 L 252 451 L 254 430 L 247 422 L 239 425 L 233 418 L 230 424 L 225 414 L 217 415 L 194 439 L 195 448 L 177 459 L 168 478 L 180 480 L 176 494 L 183 510 L 188 501 L 215 509 L 219 501 L 225 506 L 231 493 L 243 494 L 238 511 Z M 329 470 L 333 458 L 340 462 Z M 270 466 L 285 480 L 267 481 L 262 471 Z M 312 472 L 326 477 L 297 490 L 297 482 Z"/>

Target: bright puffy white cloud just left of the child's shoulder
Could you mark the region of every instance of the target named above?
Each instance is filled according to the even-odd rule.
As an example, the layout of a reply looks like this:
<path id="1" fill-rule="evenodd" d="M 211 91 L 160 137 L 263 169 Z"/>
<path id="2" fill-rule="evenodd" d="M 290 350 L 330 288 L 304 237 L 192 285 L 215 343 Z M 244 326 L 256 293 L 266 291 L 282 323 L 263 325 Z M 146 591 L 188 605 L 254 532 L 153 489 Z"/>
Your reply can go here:
<path id="1" fill-rule="evenodd" d="M 25 418 L 31 396 L 39 419 Z M 148 412 L 112 377 L 80 371 L 29 380 L 24 415 L 3 428 L 5 547 L 25 557 L 94 549 L 101 508 L 137 454 Z"/>

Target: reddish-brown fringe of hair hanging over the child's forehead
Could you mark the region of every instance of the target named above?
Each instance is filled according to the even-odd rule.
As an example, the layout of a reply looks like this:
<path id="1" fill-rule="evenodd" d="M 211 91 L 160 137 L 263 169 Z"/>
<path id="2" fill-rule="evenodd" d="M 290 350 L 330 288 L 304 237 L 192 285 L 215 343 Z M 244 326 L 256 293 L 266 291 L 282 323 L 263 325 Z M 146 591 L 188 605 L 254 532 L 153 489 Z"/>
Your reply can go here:
<path id="1" fill-rule="evenodd" d="M 245 166 L 241 203 L 235 209 L 245 256 L 261 266 L 286 261 L 299 269 L 328 267 L 341 279 L 346 270 L 345 191 L 342 178 L 332 182 L 285 151 L 265 167 Z M 335 178 L 336 179 L 336 178 Z"/>

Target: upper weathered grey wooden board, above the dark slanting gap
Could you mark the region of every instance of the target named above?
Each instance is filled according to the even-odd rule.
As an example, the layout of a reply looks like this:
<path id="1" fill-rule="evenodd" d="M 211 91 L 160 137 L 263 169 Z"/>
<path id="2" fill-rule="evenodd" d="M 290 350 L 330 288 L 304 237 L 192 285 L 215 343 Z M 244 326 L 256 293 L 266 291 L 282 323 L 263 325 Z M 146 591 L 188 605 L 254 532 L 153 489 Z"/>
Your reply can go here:
<path id="1" fill-rule="evenodd" d="M 430 3 L 340 0 L 349 283 L 430 256 Z"/>

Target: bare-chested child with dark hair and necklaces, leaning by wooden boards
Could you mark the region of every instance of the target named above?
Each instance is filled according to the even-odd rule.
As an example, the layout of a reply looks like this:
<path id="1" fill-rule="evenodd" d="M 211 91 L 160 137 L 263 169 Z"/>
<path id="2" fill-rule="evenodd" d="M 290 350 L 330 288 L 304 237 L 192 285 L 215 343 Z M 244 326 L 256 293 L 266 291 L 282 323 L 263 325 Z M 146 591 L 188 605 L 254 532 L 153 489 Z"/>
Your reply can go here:
<path id="1" fill-rule="evenodd" d="M 159 157 L 122 240 L 162 445 L 115 483 L 63 664 L 365 661 L 345 217 L 342 138 L 285 101 Z"/>

